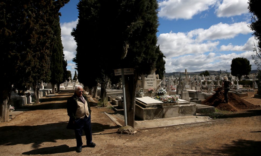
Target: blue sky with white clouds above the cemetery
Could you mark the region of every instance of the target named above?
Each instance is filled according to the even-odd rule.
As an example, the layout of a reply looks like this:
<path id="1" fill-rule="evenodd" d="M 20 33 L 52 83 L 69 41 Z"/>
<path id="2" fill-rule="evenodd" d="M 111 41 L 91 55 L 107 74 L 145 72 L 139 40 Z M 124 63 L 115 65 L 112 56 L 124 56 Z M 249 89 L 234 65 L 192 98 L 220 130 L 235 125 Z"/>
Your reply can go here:
<path id="1" fill-rule="evenodd" d="M 78 20 L 77 4 L 71 0 L 61 8 L 62 44 L 67 70 L 75 73 L 76 42 L 70 35 Z M 158 44 L 166 56 L 166 72 L 228 70 L 233 58 L 244 57 L 252 64 L 253 43 L 248 28 L 251 14 L 248 0 L 165 0 L 158 1 Z M 77 72 L 77 71 L 76 71 Z"/>

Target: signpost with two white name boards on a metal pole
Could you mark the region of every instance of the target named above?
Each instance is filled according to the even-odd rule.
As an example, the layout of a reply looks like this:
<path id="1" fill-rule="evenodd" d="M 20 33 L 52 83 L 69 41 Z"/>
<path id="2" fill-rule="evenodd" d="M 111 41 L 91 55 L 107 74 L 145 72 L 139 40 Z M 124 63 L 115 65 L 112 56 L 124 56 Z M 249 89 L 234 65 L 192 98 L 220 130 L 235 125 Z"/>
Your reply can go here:
<path id="1" fill-rule="evenodd" d="M 124 75 L 134 74 L 134 69 L 133 68 L 114 69 L 114 74 L 115 74 L 115 76 L 122 75 L 124 122 L 125 122 L 125 126 L 127 126 L 128 123 L 127 123 L 127 110 L 126 110 L 126 100 L 125 100 L 126 99 L 126 93 L 125 93 Z"/>

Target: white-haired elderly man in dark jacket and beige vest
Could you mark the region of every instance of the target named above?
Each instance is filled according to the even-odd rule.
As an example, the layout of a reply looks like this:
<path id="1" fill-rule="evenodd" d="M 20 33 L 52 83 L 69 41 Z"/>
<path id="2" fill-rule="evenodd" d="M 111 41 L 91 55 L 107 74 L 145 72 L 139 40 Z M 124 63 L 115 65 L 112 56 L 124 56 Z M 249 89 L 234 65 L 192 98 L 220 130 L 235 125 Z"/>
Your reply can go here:
<path id="1" fill-rule="evenodd" d="M 82 150 L 81 135 L 85 133 L 88 147 L 95 147 L 91 136 L 91 109 L 86 96 L 83 96 L 83 87 L 75 86 L 75 93 L 67 100 L 67 114 L 70 117 L 67 129 L 74 129 L 77 148 L 76 152 Z"/>

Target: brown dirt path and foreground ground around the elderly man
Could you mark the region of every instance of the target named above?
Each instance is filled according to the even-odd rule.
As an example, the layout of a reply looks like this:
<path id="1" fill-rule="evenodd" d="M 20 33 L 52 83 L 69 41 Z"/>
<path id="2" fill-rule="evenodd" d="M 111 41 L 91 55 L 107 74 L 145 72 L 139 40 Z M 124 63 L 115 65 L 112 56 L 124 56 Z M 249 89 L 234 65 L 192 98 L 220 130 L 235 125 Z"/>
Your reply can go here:
<path id="1" fill-rule="evenodd" d="M 96 147 L 84 144 L 81 153 L 75 152 L 74 131 L 66 129 L 66 101 L 72 94 L 73 91 L 64 90 L 43 97 L 40 104 L 26 105 L 23 109 L 27 111 L 0 123 L 0 155 L 260 155 L 261 98 L 254 98 L 254 92 L 242 99 L 255 108 L 217 109 L 211 114 L 217 121 L 137 129 L 135 135 L 116 133 L 119 127 L 104 113 L 114 112 L 110 104 L 98 107 L 97 100 L 90 98 Z"/>

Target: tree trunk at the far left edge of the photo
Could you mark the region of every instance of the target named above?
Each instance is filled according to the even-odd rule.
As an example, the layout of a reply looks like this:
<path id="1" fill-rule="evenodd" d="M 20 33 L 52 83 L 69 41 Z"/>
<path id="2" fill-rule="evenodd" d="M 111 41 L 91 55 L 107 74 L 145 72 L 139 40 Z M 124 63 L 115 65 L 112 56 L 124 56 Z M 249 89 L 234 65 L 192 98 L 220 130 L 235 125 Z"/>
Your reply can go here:
<path id="1" fill-rule="evenodd" d="M 9 121 L 9 105 L 10 105 L 10 99 L 11 99 L 11 90 L 12 86 L 2 86 L 0 92 L 0 122 L 8 122 Z"/>

